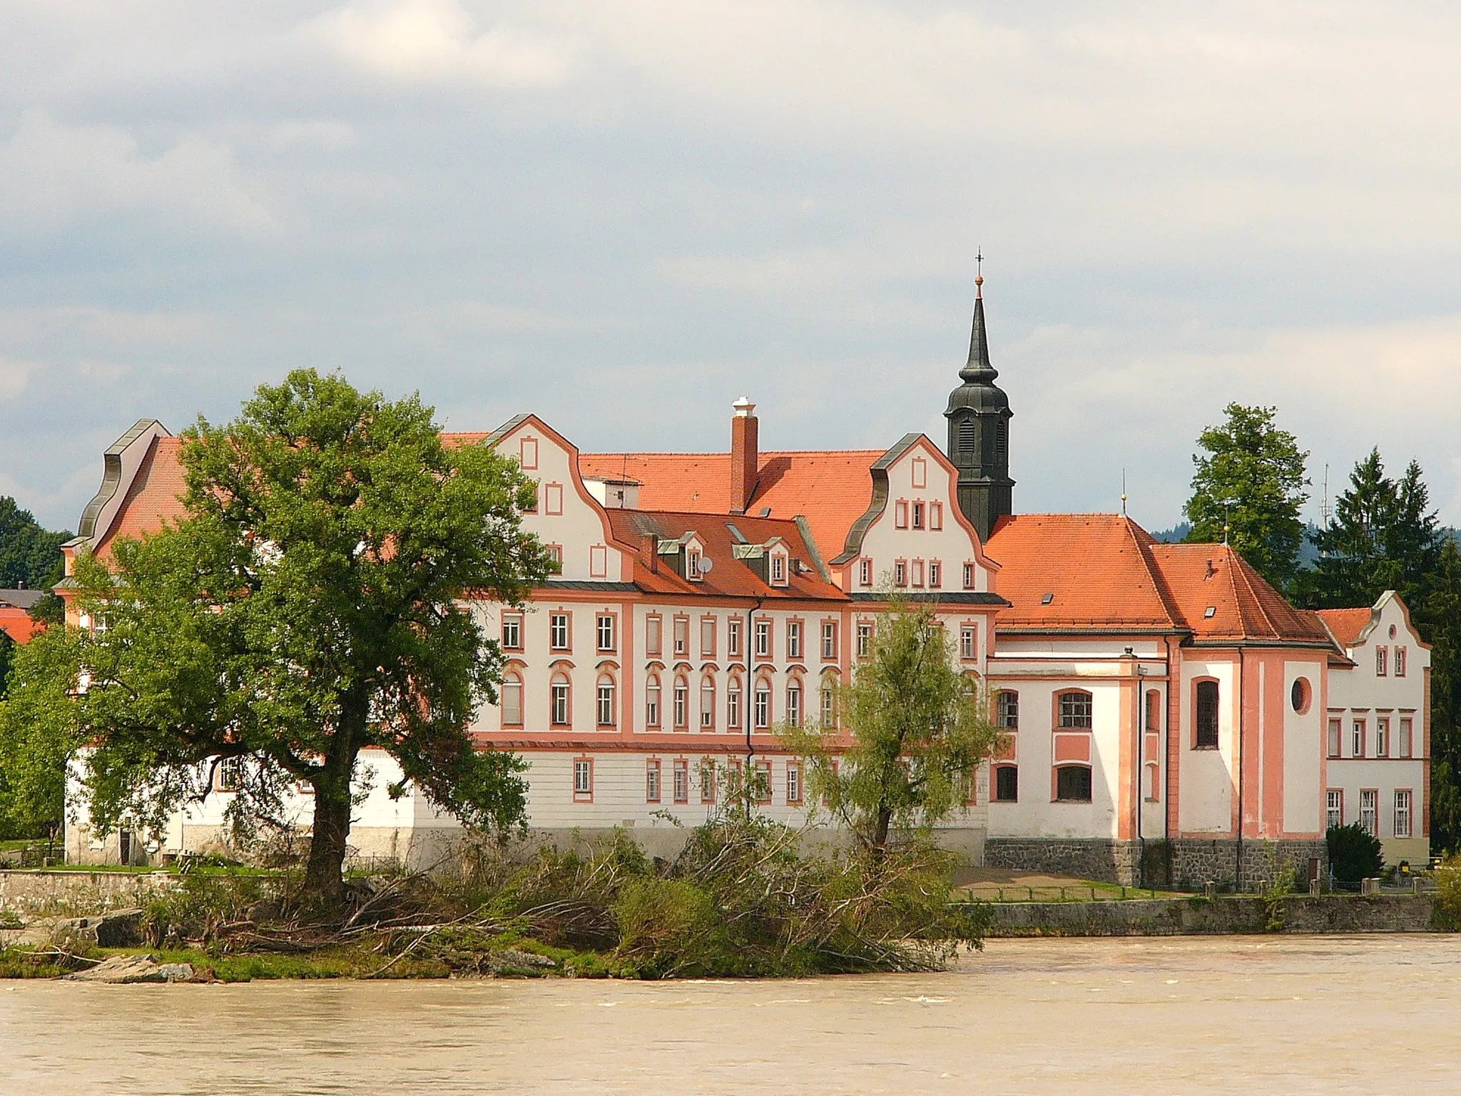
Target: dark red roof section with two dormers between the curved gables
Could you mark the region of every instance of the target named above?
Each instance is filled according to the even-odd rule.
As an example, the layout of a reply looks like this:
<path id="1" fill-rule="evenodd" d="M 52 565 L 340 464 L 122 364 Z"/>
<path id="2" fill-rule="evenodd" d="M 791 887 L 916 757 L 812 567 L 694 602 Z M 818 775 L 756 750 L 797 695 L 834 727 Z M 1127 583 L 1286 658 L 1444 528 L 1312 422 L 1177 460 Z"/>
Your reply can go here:
<path id="1" fill-rule="evenodd" d="M 609 509 L 614 539 L 638 549 L 634 582 L 647 593 L 688 593 L 725 598 L 806 599 L 831 598 L 847 601 L 847 595 L 821 577 L 815 557 L 796 522 L 776 517 L 745 517 L 742 514 L 706 514 L 675 510 L 617 510 Z M 650 539 L 676 541 L 695 533 L 704 555 L 713 563 L 700 582 L 679 577 L 665 557 L 650 564 Z M 739 535 L 739 536 L 738 536 Z M 748 561 L 735 555 L 735 545 L 767 545 L 773 539 L 785 542 L 793 561 L 785 586 L 763 580 Z M 796 567 L 801 561 L 802 567 Z"/>

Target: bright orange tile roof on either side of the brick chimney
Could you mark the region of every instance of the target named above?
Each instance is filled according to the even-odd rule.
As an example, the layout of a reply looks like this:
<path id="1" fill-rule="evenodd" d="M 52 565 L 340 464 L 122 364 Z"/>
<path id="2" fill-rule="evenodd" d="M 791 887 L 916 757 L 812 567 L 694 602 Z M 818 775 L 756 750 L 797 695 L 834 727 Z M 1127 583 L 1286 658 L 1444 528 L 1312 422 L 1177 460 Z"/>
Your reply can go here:
<path id="1" fill-rule="evenodd" d="M 808 449 L 761 453 L 748 514 L 801 514 L 824 558 L 842 552 L 847 530 L 872 503 L 878 449 Z M 580 453 L 584 476 L 636 479 L 646 510 L 730 513 L 729 453 Z"/>

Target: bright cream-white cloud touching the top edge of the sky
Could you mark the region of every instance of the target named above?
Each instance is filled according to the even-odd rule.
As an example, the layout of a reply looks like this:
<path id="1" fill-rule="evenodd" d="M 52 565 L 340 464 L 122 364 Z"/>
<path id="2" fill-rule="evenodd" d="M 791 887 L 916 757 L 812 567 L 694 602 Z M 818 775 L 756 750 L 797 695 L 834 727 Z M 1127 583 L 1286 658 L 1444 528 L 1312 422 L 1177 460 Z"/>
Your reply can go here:
<path id="1" fill-rule="evenodd" d="M 365 72 L 402 82 L 552 88 L 571 64 L 561 39 L 506 25 L 478 31 L 456 0 L 348 3 L 307 23 L 305 34 Z"/>

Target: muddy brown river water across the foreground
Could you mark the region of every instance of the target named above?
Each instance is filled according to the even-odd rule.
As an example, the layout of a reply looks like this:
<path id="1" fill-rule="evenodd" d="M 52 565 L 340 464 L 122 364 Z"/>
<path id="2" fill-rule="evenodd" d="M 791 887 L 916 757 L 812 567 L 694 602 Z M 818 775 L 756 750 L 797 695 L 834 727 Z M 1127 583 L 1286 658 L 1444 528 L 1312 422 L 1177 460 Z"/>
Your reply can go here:
<path id="1" fill-rule="evenodd" d="M 801 982 L 0 983 L 0 1093 L 1461 1093 L 1461 937 Z"/>

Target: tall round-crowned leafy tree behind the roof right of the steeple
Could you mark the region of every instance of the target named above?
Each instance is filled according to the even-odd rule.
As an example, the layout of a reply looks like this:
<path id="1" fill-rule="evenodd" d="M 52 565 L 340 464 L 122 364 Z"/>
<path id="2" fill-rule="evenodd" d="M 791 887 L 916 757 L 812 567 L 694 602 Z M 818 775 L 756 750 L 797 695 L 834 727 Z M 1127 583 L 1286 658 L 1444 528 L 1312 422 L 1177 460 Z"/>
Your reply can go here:
<path id="1" fill-rule="evenodd" d="M 1204 452 L 1192 456 L 1186 539 L 1211 544 L 1226 536 L 1268 582 L 1290 589 L 1303 544 L 1299 510 L 1309 498 L 1309 454 L 1274 424 L 1277 408 L 1229 403 L 1223 415 L 1197 440 Z"/>

